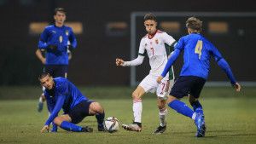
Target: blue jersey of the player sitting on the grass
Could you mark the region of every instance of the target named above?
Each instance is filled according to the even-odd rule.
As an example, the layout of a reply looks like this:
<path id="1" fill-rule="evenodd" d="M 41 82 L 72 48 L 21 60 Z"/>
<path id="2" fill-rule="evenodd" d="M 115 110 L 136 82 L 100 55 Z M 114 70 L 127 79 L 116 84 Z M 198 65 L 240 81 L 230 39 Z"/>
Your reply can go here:
<path id="1" fill-rule="evenodd" d="M 67 78 L 54 78 L 54 82 L 53 89 L 45 89 L 44 91 L 49 112 L 51 113 L 45 125 L 49 125 L 54 120 L 61 108 L 66 114 L 79 102 L 88 100 Z"/>

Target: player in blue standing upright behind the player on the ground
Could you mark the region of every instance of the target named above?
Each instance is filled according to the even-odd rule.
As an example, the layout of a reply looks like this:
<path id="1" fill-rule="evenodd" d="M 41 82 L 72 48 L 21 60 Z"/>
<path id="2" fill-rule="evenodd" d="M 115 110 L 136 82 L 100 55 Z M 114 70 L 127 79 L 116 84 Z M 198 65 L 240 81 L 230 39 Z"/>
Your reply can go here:
<path id="1" fill-rule="evenodd" d="M 55 24 L 46 26 L 42 32 L 36 55 L 44 64 L 44 71 L 51 76 L 67 78 L 68 60 L 71 52 L 77 47 L 77 40 L 73 30 L 65 26 L 66 11 L 56 8 L 54 14 Z M 45 52 L 45 57 L 42 55 Z M 38 112 L 43 110 L 44 95 L 41 95 L 38 103 Z"/>

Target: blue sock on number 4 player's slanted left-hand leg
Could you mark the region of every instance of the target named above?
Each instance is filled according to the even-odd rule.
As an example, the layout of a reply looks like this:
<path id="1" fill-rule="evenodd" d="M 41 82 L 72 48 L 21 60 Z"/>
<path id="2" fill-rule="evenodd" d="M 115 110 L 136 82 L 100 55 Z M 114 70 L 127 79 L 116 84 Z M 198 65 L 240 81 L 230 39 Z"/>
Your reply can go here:
<path id="1" fill-rule="evenodd" d="M 194 112 L 183 101 L 174 100 L 170 102 L 168 106 L 176 110 L 176 112 L 183 114 L 184 116 L 189 118 L 192 118 L 193 116 Z"/>

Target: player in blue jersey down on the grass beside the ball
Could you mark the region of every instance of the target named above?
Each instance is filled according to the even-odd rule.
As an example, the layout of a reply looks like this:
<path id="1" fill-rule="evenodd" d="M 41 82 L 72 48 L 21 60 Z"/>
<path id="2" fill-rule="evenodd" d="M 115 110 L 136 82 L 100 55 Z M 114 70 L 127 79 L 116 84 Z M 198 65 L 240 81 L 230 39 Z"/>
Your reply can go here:
<path id="1" fill-rule="evenodd" d="M 79 89 L 67 78 L 52 78 L 49 73 L 42 73 L 38 80 L 44 86 L 44 95 L 51 112 L 41 132 L 49 131 L 52 122 L 63 130 L 74 132 L 92 132 L 92 128 L 81 127 L 78 124 L 86 116 L 96 115 L 98 130 L 104 131 L 103 121 L 105 117 L 102 106 L 95 101 L 90 101 L 82 95 Z M 58 113 L 64 112 L 61 116 Z"/>

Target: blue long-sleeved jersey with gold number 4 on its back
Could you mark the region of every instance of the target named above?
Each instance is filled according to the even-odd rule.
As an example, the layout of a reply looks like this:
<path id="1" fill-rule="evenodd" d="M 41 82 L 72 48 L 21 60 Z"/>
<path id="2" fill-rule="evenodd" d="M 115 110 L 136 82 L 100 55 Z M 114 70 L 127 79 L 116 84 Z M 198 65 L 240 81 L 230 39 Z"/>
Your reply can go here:
<path id="1" fill-rule="evenodd" d="M 168 60 L 165 70 L 161 74 L 162 77 L 166 76 L 173 62 L 177 60 L 178 55 L 183 50 L 183 68 L 180 76 L 196 76 L 207 79 L 212 56 L 218 62 L 218 66 L 226 72 L 231 84 L 236 84 L 236 79 L 226 60 L 218 52 L 218 49 L 200 33 L 191 33 L 179 39 L 174 46 L 174 52 Z"/>

